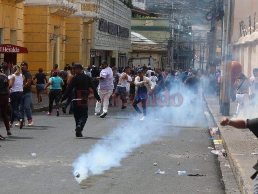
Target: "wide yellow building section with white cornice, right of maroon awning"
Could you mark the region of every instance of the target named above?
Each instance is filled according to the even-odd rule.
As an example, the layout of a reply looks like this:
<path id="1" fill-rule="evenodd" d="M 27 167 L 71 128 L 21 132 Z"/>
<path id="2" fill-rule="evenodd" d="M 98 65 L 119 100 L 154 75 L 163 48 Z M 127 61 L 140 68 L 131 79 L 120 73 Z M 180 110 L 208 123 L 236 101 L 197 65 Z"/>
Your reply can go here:
<path id="1" fill-rule="evenodd" d="M 75 0 L 30 0 L 24 2 L 23 59 L 35 74 L 41 67 L 49 72 L 54 64 L 65 65 L 66 17 L 77 11 Z"/>

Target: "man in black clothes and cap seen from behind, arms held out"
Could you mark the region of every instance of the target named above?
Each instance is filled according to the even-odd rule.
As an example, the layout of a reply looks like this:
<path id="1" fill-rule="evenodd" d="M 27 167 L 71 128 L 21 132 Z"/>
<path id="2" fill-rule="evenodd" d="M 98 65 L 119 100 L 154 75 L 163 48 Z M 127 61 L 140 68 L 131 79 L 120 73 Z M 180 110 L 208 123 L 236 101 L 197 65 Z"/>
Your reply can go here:
<path id="1" fill-rule="evenodd" d="M 73 99 L 73 111 L 76 122 L 76 137 L 82 137 L 81 131 L 83 130 L 87 118 L 88 118 L 88 97 L 90 94 L 90 88 L 93 90 L 95 98 L 101 103 L 101 99 L 96 91 L 91 78 L 83 74 L 83 66 L 81 64 L 74 64 L 74 74 L 72 81 L 69 84 L 65 94 L 60 100 L 60 103 L 64 101 L 70 94 L 72 94 Z"/>

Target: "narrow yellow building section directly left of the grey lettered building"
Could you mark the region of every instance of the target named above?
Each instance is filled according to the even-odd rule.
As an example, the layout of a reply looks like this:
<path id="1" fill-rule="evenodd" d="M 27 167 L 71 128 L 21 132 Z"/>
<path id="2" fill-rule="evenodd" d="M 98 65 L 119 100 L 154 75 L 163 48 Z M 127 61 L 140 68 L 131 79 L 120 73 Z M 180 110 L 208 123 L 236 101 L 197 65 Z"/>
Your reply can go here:
<path id="1" fill-rule="evenodd" d="M 66 17 L 66 35 L 69 46 L 65 47 L 65 62 L 90 65 L 91 24 L 99 17 L 99 7 L 95 1 L 77 3 L 78 11 Z"/>

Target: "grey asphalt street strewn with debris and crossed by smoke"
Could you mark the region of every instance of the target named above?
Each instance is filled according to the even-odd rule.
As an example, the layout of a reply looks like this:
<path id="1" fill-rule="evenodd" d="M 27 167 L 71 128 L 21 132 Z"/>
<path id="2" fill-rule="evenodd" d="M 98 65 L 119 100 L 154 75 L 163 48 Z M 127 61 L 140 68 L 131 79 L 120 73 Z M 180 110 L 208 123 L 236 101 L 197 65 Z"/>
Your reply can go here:
<path id="1" fill-rule="evenodd" d="M 184 110 L 148 107 L 148 120 L 140 122 L 132 106 L 109 107 L 106 118 L 90 106 L 82 138 L 75 137 L 72 115 L 34 113 L 33 127 L 13 127 L 13 137 L 0 141 L 0 193 L 224 194 L 203 110 L 193 109 L 195 116 Z M 0 127 L 3 135 L 2 121 Z M 82 153 L 76 170 L 93 175 L 79 185 L 73 162 Z"/>

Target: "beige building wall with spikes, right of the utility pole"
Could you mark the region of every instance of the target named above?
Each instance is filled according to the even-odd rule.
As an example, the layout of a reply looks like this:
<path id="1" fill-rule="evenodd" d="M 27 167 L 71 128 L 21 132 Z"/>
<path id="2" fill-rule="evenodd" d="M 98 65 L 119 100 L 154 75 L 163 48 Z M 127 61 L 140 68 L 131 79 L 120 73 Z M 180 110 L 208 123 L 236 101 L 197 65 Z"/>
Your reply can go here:
<path id="1" fill-rule="evenodd" d="M 254 20 L 255 13 L 258 13 L 258 3 L 257 0 L 233 0 L 232 9 L 232 60 L 238 61 L 243 67 L 244 75 L 250 78 L 253 76 L 253 69 L 258 67 L 258 16 Z M 243 28 L 240 27 L 242 20 Z"/>

